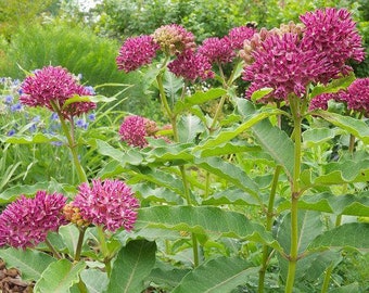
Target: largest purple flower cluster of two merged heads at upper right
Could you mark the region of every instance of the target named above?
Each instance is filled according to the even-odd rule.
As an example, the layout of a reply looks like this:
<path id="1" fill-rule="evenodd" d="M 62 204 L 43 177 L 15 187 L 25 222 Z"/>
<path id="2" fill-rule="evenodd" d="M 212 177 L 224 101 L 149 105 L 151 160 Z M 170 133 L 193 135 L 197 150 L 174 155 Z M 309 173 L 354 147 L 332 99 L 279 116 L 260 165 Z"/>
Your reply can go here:
<path id="1" fill-rule="evenodd" d="M 264 29 L 244 43 L 243 79 L 252 82 L 247 98 L 264 87 L 272 88 L 269 97 L 277 100 L 288 100 L 290 93 L 303 97 L 308 84 L 327 84 L 352 71 L 347 61 L 364 60 L 361 38 L 346 10 L 308 12 L 301 21 L 303 27 Z"/>

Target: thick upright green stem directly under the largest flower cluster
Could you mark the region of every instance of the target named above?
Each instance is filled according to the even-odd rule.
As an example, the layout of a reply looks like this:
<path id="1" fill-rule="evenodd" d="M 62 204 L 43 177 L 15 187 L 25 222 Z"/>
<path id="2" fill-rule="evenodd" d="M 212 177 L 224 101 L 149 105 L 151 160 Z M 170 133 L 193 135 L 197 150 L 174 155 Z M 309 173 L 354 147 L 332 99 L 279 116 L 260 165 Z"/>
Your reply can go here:
<path id="1" fill-rule="evenodd" d="M 294 168 L 291 182 L 291 249 L 289 255 L 289 271 L 287 277 L 285 293 L 292 293 L 296 273 L 298 254 L 298 196 L 300 196 L 300 173 L 302 161 L 302 114 L 300 99 L 289 97 L 293 118 L 294 133 Z"/>

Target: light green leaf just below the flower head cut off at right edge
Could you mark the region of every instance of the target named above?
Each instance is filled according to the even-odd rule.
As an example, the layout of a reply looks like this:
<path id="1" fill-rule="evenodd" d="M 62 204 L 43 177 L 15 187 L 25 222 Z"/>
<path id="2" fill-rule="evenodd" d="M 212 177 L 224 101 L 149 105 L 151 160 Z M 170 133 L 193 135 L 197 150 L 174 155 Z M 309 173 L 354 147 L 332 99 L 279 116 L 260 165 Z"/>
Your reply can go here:
<path id="1" fill-rule="evenodd" d="M 314 114 L 348 131 L 362 140 L 364 143 L 369 144 L 369 126 L 365 122 L 322 110 L 317 110 Z"/>

